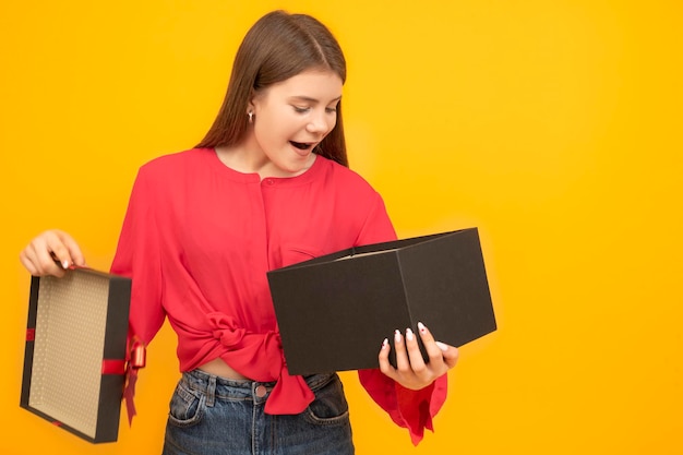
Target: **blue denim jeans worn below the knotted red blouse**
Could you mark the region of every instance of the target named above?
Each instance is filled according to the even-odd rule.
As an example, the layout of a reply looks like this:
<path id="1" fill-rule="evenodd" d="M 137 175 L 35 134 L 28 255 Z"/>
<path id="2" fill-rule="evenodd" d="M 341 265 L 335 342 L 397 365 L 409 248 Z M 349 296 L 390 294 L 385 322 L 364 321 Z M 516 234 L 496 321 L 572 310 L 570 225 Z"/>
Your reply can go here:
<path id="1" fill-rule="evenodd" d="M 164 455 L 351 455 L 348 405 L 335 373 L 305 378 L 315 400 L 301 414 L 263 411 L 275 383 L 183 373 L 170 402 Z"/>

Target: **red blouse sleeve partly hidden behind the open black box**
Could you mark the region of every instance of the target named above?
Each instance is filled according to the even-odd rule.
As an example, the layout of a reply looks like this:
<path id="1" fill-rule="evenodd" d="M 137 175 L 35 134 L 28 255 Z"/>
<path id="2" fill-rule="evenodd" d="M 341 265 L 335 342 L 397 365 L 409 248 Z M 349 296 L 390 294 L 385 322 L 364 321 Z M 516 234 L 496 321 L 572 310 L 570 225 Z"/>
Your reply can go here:
<path id="1" fill-rule="evenodd" d="M 379 197 L 359 237 L 359 246 L 396 239 L 396 234 Z M 380 354 L 378 340 L 378 355 Z M 447 376 L 439 378 L 431 385 L 411 391 L 386 376 L 379 369 L 359 370 L 360 383 L 372 399 L 384 409 L 396 424 L 407 428 L 410 440 L 417 445 L 424 435 L 424 429 L 434 430 L 432 418 L 446 399 Z"/>

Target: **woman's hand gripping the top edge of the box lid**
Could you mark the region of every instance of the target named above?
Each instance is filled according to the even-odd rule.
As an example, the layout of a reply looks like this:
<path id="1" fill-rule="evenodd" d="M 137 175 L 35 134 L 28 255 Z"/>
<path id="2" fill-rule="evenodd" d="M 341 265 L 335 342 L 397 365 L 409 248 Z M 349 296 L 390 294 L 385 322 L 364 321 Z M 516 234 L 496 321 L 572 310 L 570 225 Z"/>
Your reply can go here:
<path id="1" fill-rule="evenodd" d="M 19 255 L 20 261 L 33 276 L 64 276 L 72 266 L 85 266 L 81 248 L 62 230 L 46 230 L 33 239 Z"/>

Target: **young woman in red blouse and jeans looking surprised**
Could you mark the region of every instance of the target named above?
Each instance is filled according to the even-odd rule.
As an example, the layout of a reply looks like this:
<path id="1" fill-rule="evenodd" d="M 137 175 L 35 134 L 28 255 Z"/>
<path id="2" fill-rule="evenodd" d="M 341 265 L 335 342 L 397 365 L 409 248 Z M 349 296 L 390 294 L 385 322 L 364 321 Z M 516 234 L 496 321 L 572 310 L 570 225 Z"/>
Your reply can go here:
<path id="1" fill-rule="evenodd" d="M 141 167 L 111 265 L 132 277 L 131 340 L 168 319 L 183 372 L 165 454 L 352 454 L 335 373 L 291 376 L 266 272 L 396 238 L 381 196 L 347 168 L 346 62 L 315 19 L 275 11 L 245 35 L 220 111 L 194 148 Z M 63 267 L 56 265 L 57 260 Z M 33 275 L 84 265 L 65 232 L 21 253 Z M 457 349 L 396 327 L 361 383 L 415 443 L 446 395 Z M 429 362 L 422 360 L 421 337 Z"/>

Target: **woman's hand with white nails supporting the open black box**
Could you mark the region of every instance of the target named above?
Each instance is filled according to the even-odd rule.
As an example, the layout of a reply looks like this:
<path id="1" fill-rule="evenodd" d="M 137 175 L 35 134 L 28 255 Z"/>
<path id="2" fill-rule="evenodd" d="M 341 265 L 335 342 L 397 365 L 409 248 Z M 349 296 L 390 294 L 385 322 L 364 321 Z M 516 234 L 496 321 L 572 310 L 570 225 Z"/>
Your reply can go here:
<path id="1" fill-rule="evenodd" d="M 380 370 L 404 387 L 414 391 L 430 385 L 436 378 L 455 367 L 458 360 L 457 348 L 434 340 L 422 323 L 418 323 L 418 332 L 429 356 L 429 362 L 424 362 L 417 337 L 410 328 L 406 330 L 406 336 L 399 331 L 394 334 L 396 368 L 388 361 L 391 347 L 387 339 L 380 350 Z"/>

